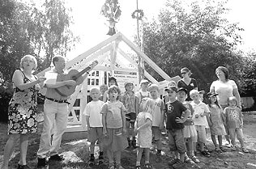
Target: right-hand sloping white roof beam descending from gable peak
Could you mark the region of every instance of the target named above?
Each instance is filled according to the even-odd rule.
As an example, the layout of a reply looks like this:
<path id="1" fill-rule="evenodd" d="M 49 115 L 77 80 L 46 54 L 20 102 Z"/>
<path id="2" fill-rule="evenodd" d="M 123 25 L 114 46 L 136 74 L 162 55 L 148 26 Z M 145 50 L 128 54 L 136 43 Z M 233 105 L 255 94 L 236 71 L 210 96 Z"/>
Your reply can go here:
<path id="1" fill-rule="evenodd" d="M 154 70 L 156 70 L 156 72 L 158 74 L 160 74 L 160 76 L 162 76 L 165 80 L 170 80 L 171 78 L 169 77 L 168 74 L 166 74 L 163 70 L 160 69 L 160 67 L 158 65 L 156 65 L 156 63 L 154 63 L 153 61 L 151 61 L 151 59 L 149 57 L 147 57 L 147 55 L 145 53 L 143 53 L 139 47 L 135 46 L 132 42 L 130 42 L 130 40 L 128 40 L 126 38 L 126 36 L 122 35 L 122 40 L 124 40 L 126 42 L 126 44 L 128 46 L 130 46 L 131 49 L 134 49 L 134 52 L 136 52 L 140 57 L 143 58 L 144 61 L 147 62 L 148 65 L 151 66 L 151 68 L 153 68 Z"/>

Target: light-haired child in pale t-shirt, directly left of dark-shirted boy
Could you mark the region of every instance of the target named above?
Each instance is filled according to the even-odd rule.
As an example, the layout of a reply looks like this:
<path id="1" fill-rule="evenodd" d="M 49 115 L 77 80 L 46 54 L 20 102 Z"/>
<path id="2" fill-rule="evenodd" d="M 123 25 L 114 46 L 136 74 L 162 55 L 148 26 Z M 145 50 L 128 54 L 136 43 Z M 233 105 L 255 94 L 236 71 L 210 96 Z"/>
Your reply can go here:
<path id="1" fill-rule="evenodd" d="M 152 112 L 152 133 L 157 145 L 157 161 L 160 161 L 162 150 L 160 125 L 162 120 L 161 118 L 164 114 L 164 102 L 159 97 L 159 87 L 156 84 L 152 84 L 150 87 L 148 87 L 148 91 L 150 92 L 151 98 L 155 101 L 155 109 Z"/>

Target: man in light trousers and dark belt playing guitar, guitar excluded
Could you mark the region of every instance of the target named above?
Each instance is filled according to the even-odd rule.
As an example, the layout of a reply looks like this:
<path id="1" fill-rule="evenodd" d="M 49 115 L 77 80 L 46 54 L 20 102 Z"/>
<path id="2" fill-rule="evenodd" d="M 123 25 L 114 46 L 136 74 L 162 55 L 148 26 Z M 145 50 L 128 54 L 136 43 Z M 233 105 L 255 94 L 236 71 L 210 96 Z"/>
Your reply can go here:
<path id="1" fill-rule="evenodd" d="M 40 147 L 37 151 L 37 167 L 45 167 L 48 156 L 50 156 L 50 160 L 62 161 L 64 159 L 58 154 L 58 150 L 61 146 L 62 134 L 66 129 L 69 104 L 67 99 L 70 96 L 62 95 L 56 89 L 63 86 L 73 87 L 77 85 L 75 80 L 58 80 L 59 77 L 66 75 L 66 72 L 64 72 L 66 65 L 64 57 L 57 55 L 53 57 L 52 62 L 54 67 L 49 73 L 56 73 L 58 76 L 54 83 L 45 82 L 47 91 L 44 104 L 44 127 L 41 133 Z M 82 76 L 83 80 L 87 77 L 87 74 L 88 71 Z"/>

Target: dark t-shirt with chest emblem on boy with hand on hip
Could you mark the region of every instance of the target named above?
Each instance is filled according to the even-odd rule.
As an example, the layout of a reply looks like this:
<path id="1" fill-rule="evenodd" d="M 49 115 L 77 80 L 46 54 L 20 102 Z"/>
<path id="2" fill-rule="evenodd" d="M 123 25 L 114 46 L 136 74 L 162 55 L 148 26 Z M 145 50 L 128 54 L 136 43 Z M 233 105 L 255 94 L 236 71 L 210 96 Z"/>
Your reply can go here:
<path id="1" fill-rule="evenodd" d="M 183 129 L 182 123 L 177 123 L 175 120 L 177 117 L 181 118 L 182 112 L 185 112 L 187 108 L 179 101 L 167 102 L 165 104 L 165 116 L 166 116 L 166 129 Z"/>

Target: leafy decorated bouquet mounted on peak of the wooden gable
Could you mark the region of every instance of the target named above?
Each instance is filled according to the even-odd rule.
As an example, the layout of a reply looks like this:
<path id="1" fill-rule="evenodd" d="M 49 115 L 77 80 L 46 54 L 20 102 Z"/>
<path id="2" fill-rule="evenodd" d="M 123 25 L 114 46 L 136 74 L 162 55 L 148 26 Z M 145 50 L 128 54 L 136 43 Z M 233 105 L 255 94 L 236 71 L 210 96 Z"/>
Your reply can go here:
<path id="1" fill-rule="evenodd" d="M 107 35 L 113 36 L 116 34 L 115 25 L 120 18 L 121 12 L 118 0 L 106 0 L 101 7 L 100 14 L 104 15 L 108 19 L 107 21 L 109 21 L 109 32 Z"/>

